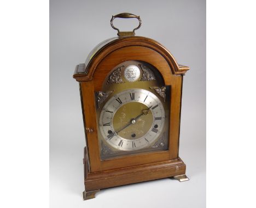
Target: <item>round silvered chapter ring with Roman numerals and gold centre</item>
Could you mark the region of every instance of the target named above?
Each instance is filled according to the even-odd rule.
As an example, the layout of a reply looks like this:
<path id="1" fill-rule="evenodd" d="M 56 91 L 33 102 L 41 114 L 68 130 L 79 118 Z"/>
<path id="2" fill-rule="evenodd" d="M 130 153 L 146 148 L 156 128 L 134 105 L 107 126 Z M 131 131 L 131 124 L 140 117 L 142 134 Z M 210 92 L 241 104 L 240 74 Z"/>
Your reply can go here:
<path id="1" fill-rule="evenodd" d="M 115 149 L 133 151 L 153 145 L 165 124 L 159 98 L 148 90 L 127 89 L 109 99 L 100 114 L 100 131 Z"/>

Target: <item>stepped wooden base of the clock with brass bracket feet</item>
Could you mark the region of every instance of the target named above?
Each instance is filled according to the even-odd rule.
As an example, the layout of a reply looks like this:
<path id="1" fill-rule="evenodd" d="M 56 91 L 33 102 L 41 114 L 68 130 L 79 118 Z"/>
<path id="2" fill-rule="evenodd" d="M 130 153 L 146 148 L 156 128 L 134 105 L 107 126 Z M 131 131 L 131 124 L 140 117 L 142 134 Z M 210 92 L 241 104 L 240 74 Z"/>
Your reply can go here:
<path id="1" fill-rule="evenodd" d="M 84 149 L 84 158 L 87 157 L 86 148 Z M 189 180 L 185 176 L 186 165 L 181 158 L 171 161 L 156 162 L 134 166 L 128 168 L 120 168 L 106 170 L 99 173 L 91 173 L 88 171 L 88 160 L 84 160 L 84 200 L 95 198 L 95 194 L 103 188 L 127 185 L 143 181 L 150 181 L 162 178 L 173 177 L 180 182 Z"/>

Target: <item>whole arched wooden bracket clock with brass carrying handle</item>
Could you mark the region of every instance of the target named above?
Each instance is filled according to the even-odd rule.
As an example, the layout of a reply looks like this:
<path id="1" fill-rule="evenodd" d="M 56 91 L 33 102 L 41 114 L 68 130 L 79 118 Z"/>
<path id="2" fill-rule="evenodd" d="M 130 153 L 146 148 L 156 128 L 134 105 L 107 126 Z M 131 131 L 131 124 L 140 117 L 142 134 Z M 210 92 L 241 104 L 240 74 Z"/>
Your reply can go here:
<path id="1" fill-rule="evenodd" d="M 139 26 L 120 32 L 115 18 Z M 118 36 L 103 41 L 75 68 L 85 128 L 84 200 L 100 189 L 174 177 L 189 180 L 179 157 L 183 75 L 159 42 L 135 36 L 139 16 L 112 16 Z"/>

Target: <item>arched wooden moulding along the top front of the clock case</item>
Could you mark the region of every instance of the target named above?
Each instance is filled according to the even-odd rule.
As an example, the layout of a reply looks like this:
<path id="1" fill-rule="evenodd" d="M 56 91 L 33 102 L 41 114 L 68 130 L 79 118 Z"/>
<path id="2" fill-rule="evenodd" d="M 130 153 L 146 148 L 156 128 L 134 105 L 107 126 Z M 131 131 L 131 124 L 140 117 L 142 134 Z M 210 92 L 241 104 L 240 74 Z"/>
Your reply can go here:
<path id="1" fill-rule="evenodd" d="M 98 64 L 100 64 L 100 62 L 106 56 L 108 56 L 109 53 L 112 53 L 113 51 L 118 50 L 119 48 L 127 47 L 127 46 L 144 46 L 144 47 L 151 48 L 156 52 L 160 53 L 167 60 L 168 64 L 171 66 L 172 74 L 174 75 L 185 74 L 185 72 L 189 70 L 188 66 L 178 64 L 174 59 L 174 57 L 172 56 L 172 54 L 159 42 L 150 38 L 145 38 L 141 36 L 132 36 L 132 37 L 119 38 L 103 46 L 91 59 L 88 66 L 86 66 L 86 70 L 85 70 L 86 73 L 77 74 L 77 69 L 78 69 L 78 66 L 77 66 L 77 68 L 75 69 L 73 78 L 75 78 L 78 82 L 90 81 L 94 75 L 94 72 Z"/>

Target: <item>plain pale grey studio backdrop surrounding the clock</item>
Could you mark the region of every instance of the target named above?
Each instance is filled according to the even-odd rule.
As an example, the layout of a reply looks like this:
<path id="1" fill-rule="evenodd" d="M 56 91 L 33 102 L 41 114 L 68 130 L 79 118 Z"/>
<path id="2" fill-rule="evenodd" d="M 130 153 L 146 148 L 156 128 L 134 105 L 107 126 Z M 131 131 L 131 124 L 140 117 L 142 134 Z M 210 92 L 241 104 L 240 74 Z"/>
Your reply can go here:
<path id="1" fill-rule="evenodd" d="M 99 42 L 117 36 L 112 15 L 140 15 L 136 35 L 164 45 L 184 76 L 179 155 L 186 182 L 172 179 L 103 189 L 83 201 L 85 146 L 75 65 L 84 63 Z M 114 22 L 121 30 L 136 19 Z M 205 207 L 206 206 L 206 3 L 187 1 L 50 1 L 50 207 Z"/>

